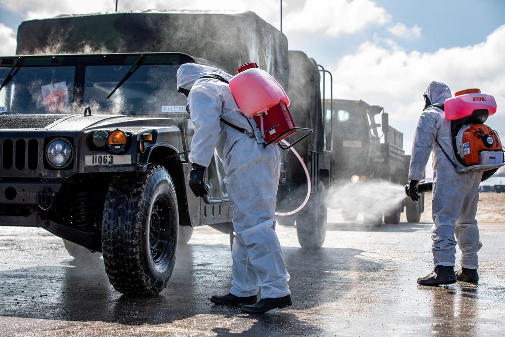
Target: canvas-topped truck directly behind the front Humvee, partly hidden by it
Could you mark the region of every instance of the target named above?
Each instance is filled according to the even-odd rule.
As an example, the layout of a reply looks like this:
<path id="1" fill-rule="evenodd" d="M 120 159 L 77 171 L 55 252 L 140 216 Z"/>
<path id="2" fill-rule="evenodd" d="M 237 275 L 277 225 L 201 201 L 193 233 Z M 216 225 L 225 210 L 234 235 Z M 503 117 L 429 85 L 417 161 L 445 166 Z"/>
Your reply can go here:
<path id="1" fill-rule="evenodd" d="M 290 216 L 278 216 L 279 224 L 293 226 L 300 245 L 319 248 L 326 235 L 327 204 L 326 190 L 330 188 L 332 153 L 325 148 L 325 130 L 331 125 L 324 123 L 321 101 L 321 74 L 314 59 L 303 52 L 289 51 L 288 96 L 292 97 L 290 111 L 295 111 L 293 120 L 297 126 L 312 128 L 310 141 L 294 145 L 309 171 L 309 179 L 293 152 L 281 152 L 281 180 L 277 192 L 277 208 L 288 212 L 298 208 L 306 199 L 308 183 L 311 197 L 306 206 Z M 294 142 L 301 133 L 290 137 Z M 289 212 L 288 212 L 289 213 Z M 303 244 L 301 244 L 303 243 Z"/>

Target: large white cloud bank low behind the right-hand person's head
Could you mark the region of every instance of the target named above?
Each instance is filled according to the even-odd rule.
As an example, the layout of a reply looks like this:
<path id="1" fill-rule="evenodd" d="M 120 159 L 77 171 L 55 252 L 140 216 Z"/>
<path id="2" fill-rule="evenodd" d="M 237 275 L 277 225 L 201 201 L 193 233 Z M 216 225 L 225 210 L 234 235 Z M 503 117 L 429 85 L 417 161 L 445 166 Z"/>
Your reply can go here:
<path id="1" fill-rule="evenodd" d="M 362 99 L 384 107 L 390 124 L 404 133 L 410 153 L 413 133 L 429 82 L 446 83 L 456 92 L 477 87 L 494 96 L 498 110 L 487 124 L 505 139 L 505 25 L 486 41 L 435 53 L 406 53 L 396 44 L 364 42 L 356 53 L 341 58 L 333 67 L 334 92 L 339 99 Z"/>

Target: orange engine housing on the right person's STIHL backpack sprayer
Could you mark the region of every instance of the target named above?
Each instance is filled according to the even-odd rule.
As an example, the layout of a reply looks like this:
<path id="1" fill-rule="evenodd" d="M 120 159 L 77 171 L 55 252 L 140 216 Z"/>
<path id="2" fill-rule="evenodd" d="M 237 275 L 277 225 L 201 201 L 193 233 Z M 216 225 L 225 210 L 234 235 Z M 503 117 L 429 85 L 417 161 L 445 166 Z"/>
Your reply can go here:
<path id="1" fill-rule="evenodd" d="M 456 137 L 458 154 L 465 159 L 467 165 L 480 163 L 479 154 L 482 151 L 499 152 L 502 154 L 498 133 L 484 124 L 465 125 Z"/>

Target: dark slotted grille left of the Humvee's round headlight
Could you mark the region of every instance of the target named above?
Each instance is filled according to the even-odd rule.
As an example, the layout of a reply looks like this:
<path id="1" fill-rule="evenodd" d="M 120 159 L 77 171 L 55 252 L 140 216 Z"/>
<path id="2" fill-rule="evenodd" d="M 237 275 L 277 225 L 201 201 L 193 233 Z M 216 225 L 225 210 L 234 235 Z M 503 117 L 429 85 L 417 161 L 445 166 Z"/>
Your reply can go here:
<path id="1" fill-rule="evenodd" d="M 34 171 L 38 167 L 38 139 L 0 139 L 0 169 Z"/>

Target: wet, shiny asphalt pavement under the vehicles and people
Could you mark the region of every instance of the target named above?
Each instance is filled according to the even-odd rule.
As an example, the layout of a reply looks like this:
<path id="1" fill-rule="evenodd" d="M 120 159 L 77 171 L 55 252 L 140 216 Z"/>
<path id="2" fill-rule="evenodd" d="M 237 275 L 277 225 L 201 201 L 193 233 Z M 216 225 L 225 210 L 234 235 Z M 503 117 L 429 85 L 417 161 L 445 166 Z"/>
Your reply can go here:
<path id="1" fill-rule="evenodd" d="M 502 336 L 505 224 L 480 224 L 480 282 L 420 286 L 431 271 L 431 223 L 369 228 L 329 210 L 321 250 L 277 226 L 293 305 L 264 315 L 215 306 L 229 291 L 229 238 L 195 229 L 158 296 L 110 285 L 103 260 L 71 258 L 43 229 L 0 227 L 0 336 Z M 457 257 L 458 259 L 459 257 Z"/>

